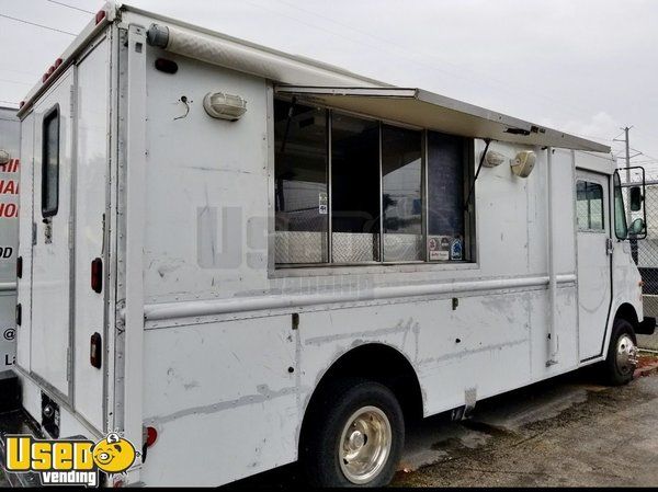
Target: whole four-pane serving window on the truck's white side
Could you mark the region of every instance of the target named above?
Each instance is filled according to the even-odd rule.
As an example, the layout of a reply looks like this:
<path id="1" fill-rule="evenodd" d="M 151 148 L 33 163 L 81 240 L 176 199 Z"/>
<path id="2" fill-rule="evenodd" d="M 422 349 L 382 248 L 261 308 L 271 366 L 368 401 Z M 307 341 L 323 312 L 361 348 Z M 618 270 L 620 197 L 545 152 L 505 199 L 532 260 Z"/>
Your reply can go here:
<path id="1" fill-rule="evenodd" d="M 470 262 L 473 139 L 274 100 L 275 263 Z"/>

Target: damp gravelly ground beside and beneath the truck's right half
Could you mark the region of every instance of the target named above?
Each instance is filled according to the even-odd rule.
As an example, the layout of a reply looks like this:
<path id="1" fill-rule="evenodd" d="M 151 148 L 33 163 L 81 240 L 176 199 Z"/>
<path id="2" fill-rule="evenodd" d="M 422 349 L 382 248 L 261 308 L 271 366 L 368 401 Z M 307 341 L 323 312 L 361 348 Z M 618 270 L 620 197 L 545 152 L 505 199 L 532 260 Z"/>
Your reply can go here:
<path id="1" fill-rule="evenodd" d="M 622 388 L 588 379 L 577 373 L 487 400 L 469 421 L 424 422 L 394 485 L 658 485 L 658 376 Z"/>

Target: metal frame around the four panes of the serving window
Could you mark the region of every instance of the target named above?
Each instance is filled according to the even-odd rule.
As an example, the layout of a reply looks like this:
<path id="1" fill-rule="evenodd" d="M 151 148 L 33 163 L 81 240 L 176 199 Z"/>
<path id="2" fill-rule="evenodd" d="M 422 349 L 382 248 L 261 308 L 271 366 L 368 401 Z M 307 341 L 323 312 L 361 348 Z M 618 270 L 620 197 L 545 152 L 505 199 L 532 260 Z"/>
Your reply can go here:
<path id="1" fill-rule="evenodd" d="M 273 187 L 274 187 L 274 176 L 275 176 L 275 169 L 276 169 L 276 159 L 275 159 L 275 141 L 274 141 L 274 128 L 273 128 L 273 124 L 274 124 L 274 100 L 281 100 L 281 101 L 286 101 L 286 102 L 292 102 L 292 96 L 286 96 L 286 95 L 281 95 L 281 94 L 274 94 L 274 91 L 270 88 L 270 101 L 269 101 L 269 111 L 271 113 L 270 119 L 272 122 L 272 127 L 269 130 L 269 134 L 271 135 L 272 138 L 272 145 L 271 145 L 271 153 L 270 153 L 270 169 L 271 169 L 271 173 L 270 175 L 272 176 L 272 181 L 270 182 L 270 193 L 273 193 Z M 465 209 L 464 209 L 464 238 L 463 238 L 463 251 L 464 251 L 464 255 L 468 258 L 468 260 L 434 260 L 434 261 L 430 261 L 429 259 L 429 250 L 428 250 L 428 231 L 429 231 L 429 220 L 428 220 L 428 208 L 429 208 L 429 199 L 428 199 L 428 164 L 429 164 L 429 145 L 428 145 L 428 134 L 430 131 L 436 131 L 439 134 L 443 134 L 443 135 L 452 135 L 455 137 L 460 137 L 464 139 L 464 155 L 463 155 L 463 159 L 464 159 L 464 165 L 463 165 L 463 171 L 464 171 L 464 176 L 463 176 L 463 193 L 464 193 L 464 198 L 467 196 L 468 191 L 470 190 L 470 185 L 473 184 L 473 181 L 475 179 L 475 156 L 477 153 L 477 147 L 478 147 L 478 139 L 474 138 L 474 137 L 465 137 L 463 135 L 454 135 L 454 134 L 449 134 L 446 131 L 440 131 L 440 130 L 434 130 L 434 129 L 429 129 L 429 128 L 422 128 L 422 127 L 418 127 L 416 125 L 410 125 L 407 123 L 400 123 L 400 122 L 396 122 L 396 121 L 390 121 L 390 119 L 383 119 L 383 118 L 377 118 L 374 117 L 372 115 L 368 114 L 363 114 L 363 113 L 358 113 L 358 112 L 353 112 L 353 111 L 347 111 L 343 108 L 337 108 L 337 107 L 332 107 L 330 105 L 324 105 L 324 104 L 315 104 L 313 102 L 308 102 L 308 101 L 297 101 L 298 104 L 303 104 L 303 105 L 313 105 L 316 107 L 321 107 L 324 108 L 327 113 L 327 156 L 328 156 L 328 165 L 327 165 L 327 174 L 328 174 L 328 240 L 327 240 L 327 247 L 329 249 L 328 251 L 328 262 L 322 262 L 322 263 L 276 263 L 275 259 L 274 259 L 274 254 L 273 254 L 273 247 L 274 247 L 274 233 L 271 234 L 271 242 L 270 242 L 270 251 L 271 253 L 269 253 L 269 258 L 270 258 L 270 275 L 273 277 L 285 277 L 285 276 L 305 276 L 308 275 L 309 271 L 313 271 L 313 275 L 334 275 L 334 274 L 349 274 L 349 273 L 377 273 L 377 272 L 422 272 L 422 271 L 427 271 L 427 270 L 475 270 L 475 268 L 479 268 L 479 260 L 477 256 L 477 220 L 476 220 L 476 198 L 475 198 L 475 193 L 472 194 L 468 204 L 465 204 Z M 405 128 L 405 129 L 410 129 L 410 130 L 416 130 L 416 131 L 420 131 L 421 134 L 421 138 L 420 138 L 420 142 L 421 142 L 421 149 L 420 149 L 420 153 L 421 153 L 421 193 L 422 193 L 422 199 L 423 199 L 423 204 L 422 204 L 422 217 L 421 217 L 421 232 L 422 232 L 422 237 L 423 237 L 423 259 L 422 260 L 407 260 L 407 261 L 390 261 L 390 262 L 386 262 L 386 261 L 367 261 L 367 262 L 353 262 L 353 263 L 334 263 L 332 262 L 332 203 L 331 203 L 331 196 L 332 196 L 332 179 L 331 179 L 331 172 L 332 172 L 332 145 L 331 145 L 331 140 L 332 140 L 332 122 L 333 122 L 333 115 L 334 114 L 342 114 L 342 115 L 347 115 L 347 116 L 352 116 L 352 117 L 358 117 L 358 118 L 362 118 L 362 119 L 367 119 L 371 122 L 377 122 L 378 124 L 378 133 L 379 133 L 379 201 L 381 201 L 381 209 L 379 211 L 382 213 L 382 201 L 383 201 L 383 196 L 382 196 L 382 190 L 383 190 L 383 176 L 382 176 L 382 128 L 384 125 L 390 125 L 397 128 Z M 275 220 L 275 216 L 276 216 L 276 210 L 274 209 L 274 207 L 272 206 L 271 208 L 272 210 L 272 224 Z M 381 214 L 381 218 L 379 218 L 379 227 L 381 227 L 381 231 L 379 231 L 379 251 L 382 251 L 383 249 L 383 230 L 382 230 L 382 221 L 383 221 L 383 216 Z M 274 230 L 272 229 L 272 232 L 274 232 Z M 392 268 L 394 266 L 397 266 L 397 268 Z M 356 267 L 356 271 L 354 271 L 353 268 Z"/>

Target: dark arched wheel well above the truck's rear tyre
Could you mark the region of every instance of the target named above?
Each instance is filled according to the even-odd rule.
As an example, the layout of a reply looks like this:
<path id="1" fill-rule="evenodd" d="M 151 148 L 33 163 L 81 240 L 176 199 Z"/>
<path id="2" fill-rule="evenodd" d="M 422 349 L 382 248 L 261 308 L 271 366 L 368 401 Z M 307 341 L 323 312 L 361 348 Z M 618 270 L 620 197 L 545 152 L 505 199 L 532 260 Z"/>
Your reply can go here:
<path id="1" fill-rule="evenodd" d="M 314 403 L 320 399 L 322 391 L 337 378 L 344 377 L 362 377 L 388 387 L 396 396 L 405 419 L 422 417 L 420 384 L 407 357 L 388 345 L 372 343 L 343 354 L 325 373 L 308 403 L 304 415 L 305 423 L 314 412 Z"/>

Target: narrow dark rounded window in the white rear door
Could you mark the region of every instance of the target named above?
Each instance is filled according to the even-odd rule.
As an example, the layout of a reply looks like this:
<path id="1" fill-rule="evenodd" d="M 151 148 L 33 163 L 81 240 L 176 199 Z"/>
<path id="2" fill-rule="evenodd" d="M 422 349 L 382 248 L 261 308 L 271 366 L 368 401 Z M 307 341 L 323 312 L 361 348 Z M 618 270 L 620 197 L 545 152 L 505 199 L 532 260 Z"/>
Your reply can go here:
<path id="1" fill-rule="evenodd" d="M 53 217 L 59 207 L 59 106 L 44 115 L 42 135 L 42 215 Z"/>

